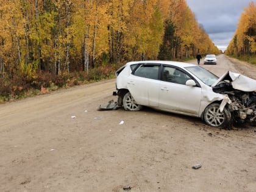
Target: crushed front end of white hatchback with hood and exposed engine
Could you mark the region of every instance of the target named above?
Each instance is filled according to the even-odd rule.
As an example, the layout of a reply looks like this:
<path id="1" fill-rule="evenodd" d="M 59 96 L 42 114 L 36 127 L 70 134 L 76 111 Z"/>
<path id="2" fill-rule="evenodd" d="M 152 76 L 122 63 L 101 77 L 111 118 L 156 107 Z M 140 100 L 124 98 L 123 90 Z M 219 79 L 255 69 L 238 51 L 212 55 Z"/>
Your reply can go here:
<path id="1" fill-rule="evenodd" d="M 256 80 L 228 71 L 212 87 L 229 96 L 233 123 L 256 123 Z"/>

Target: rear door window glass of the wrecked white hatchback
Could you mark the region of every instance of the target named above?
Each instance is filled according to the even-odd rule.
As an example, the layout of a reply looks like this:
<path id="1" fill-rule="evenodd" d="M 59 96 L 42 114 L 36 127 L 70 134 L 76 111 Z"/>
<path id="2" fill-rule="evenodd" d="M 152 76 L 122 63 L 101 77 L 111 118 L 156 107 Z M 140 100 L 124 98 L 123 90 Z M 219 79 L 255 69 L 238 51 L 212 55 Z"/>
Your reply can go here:
<path id="1" fill-rule="evenodd" d="M 133 73 L 135 76 L 145 77 L 148 79 L 158 79 L 159 65 L 141 65 Z"/>

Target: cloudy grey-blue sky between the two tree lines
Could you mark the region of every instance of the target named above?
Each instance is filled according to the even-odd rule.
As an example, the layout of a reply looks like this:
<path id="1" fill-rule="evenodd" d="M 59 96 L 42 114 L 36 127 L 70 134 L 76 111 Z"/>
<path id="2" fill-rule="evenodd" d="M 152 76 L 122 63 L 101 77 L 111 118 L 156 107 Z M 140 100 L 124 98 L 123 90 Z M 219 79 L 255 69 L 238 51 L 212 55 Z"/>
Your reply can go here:
<path id="1" fill-rule="evenodd" d="M 222 51 L 232 40 L 241 13 L 250 2 L 252 0 L 187 0 L 198 23 L 204 26 L 210 39 Z"/>

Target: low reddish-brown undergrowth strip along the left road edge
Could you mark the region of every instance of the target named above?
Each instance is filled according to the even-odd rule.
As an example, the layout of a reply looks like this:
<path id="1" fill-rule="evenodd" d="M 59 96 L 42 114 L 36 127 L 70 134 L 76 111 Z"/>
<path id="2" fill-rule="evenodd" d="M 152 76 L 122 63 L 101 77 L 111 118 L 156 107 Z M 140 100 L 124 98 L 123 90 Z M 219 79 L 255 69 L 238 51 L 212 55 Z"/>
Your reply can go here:
<path id="1" fill-rule="evenodd" d="M 111 79 L 115 77 L 116 69 L 118 69 L 117 65 L 111 65 L 108 68 L 98 67 L 90 69 L 88 74 L 83 71 L 74 71 L 58 76 L 46 72 L 38 73 L 34 77 L 15 75 L 12 79 L 5 79 L 4 83 L 1 83 L 0 104 L 38 94 L 46 94 L 59 88 L 69 88 L 98 80 Z"/>

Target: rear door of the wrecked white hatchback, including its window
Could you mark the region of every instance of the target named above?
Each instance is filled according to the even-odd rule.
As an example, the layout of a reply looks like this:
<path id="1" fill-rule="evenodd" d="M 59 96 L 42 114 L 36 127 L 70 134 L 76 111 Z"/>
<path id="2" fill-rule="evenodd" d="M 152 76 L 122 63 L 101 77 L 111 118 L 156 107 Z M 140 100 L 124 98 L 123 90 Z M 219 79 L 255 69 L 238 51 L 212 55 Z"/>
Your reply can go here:
<path id="1" fill-rule="evenodd" d="M 146 63 L 138 66 L 128 77 L 127 88 L 137 104 L 158 107 L 160 65 Z"/>

